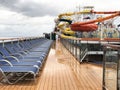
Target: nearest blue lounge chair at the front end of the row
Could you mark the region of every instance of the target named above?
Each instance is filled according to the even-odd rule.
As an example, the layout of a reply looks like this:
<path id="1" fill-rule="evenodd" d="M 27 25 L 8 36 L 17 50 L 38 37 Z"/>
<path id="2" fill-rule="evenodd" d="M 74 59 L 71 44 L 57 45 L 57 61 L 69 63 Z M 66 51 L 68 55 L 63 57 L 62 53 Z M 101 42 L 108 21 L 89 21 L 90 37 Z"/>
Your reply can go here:
<path id="1" fill-rule="evenodd" d="M 27 75 L 31 75 L 34 79 L 35 76 L 38 74 L 38 69 L 34 66 L 13 66 L 10 62 L 6 60 L 0 60 L 0 72 L 2 73 L 2 80 L 1 82 L 5 82 L 8 84 L 15 84 L 20 80 L 23 80 L 27 77 Z M 9 66 L 4 66 L 5 63 L 8 63 Z"/>

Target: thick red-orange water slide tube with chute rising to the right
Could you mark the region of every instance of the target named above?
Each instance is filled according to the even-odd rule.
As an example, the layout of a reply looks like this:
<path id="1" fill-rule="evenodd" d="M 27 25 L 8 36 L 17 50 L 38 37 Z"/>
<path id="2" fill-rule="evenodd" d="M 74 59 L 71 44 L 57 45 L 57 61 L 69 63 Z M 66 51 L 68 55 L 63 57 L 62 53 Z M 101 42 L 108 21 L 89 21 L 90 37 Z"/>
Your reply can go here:
<path id="1" fill-rule="evenodd" d="M 104 20 L 108 20 L 108 19 L 114 18 L 114 17 L 119 16 L 119 15 L 120 15 L 120 12 L 117 12 L 117 13 L 112 14 L 110 16 L 98 18 L 95 20 L 90 20 L 90 21 L 86 21 L 86 22 L 76 22 L 76 23 L 71 24 L 70 27 L 73 31 L 80 31 L 80 32 L 95 31 L 98 29 L 98 26 L 95 24 L 95 22 L 102 22 Z"/>

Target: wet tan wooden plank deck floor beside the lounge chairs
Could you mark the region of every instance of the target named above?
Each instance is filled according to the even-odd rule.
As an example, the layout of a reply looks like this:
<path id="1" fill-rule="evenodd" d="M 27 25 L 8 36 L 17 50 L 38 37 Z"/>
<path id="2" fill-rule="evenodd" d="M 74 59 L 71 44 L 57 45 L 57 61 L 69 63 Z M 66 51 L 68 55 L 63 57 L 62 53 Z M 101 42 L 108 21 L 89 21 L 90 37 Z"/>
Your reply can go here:
<path id="1" fill-rule="evenodd" d="M 102 90 L 102 68 L 79 64 L 61 43 L 57 43 L 56 48 L 50 50 L 36 82 L 1 84 L 0 90 Z"/>

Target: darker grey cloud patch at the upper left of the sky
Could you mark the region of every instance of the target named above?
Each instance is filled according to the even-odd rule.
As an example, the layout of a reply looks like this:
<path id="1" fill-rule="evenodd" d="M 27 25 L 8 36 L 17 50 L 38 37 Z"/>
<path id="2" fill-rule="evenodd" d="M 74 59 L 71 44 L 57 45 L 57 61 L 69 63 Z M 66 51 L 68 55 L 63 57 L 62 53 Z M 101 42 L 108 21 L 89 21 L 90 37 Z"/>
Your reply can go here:
<path id="1" fill-rule="evenodd" d="M 30 17 L 40 17 L 40 16 L 56 16 L 58 10 L 55 6 L 49 3 L 37 3 L 34 1 L 24 1 L 21 0 L 0 0 L 0 5 L 11 11 L 22 13 L 23 15 Z"/>

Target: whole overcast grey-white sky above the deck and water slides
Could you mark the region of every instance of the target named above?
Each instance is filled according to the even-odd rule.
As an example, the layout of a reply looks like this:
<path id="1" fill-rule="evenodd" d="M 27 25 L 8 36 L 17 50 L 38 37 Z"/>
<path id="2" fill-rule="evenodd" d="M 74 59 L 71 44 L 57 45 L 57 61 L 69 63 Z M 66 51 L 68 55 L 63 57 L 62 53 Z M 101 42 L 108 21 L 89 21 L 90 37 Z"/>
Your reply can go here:
<path id="1" fill-rule="evenodd" d="M 0 0 L 0 37 L 42 35 L 54 28 L 60 13 L 94 6 L 96 11 L 120 10 L 118 0 Z"/>

